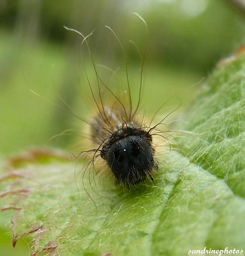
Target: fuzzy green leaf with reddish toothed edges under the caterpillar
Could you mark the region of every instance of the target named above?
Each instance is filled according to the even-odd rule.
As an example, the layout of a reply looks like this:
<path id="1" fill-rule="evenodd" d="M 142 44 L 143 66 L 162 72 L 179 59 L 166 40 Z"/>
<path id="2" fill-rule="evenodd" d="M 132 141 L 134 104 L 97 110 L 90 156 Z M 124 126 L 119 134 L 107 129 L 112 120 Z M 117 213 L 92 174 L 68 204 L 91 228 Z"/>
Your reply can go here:
<path id="1" fill-rule="evenodd" d="M 174 135 L 154 181 L 130 191 L 56 150 L 11 158 L 3 210 L 33 255 L 187 255 L 244 249 L 245 57 L 220 63 Z M 109 254 L 108 254 L 109 255 Z"/>

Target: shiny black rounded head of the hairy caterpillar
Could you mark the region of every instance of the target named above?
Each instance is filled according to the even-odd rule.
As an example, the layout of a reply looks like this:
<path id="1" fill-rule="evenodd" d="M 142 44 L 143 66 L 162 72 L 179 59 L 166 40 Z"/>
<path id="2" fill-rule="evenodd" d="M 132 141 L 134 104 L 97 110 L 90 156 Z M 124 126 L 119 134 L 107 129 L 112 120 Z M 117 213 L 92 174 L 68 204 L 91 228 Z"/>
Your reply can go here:
<path id="1" fill-rule="evenodd" d="M 152 148 L 152 135 L 141 128 L 125 127 L 111 134 L 101 150 L 101 158 L 107 161 L 115 175 L 116 183 L 136 185 L 152 178 L 157 168 Z"/>

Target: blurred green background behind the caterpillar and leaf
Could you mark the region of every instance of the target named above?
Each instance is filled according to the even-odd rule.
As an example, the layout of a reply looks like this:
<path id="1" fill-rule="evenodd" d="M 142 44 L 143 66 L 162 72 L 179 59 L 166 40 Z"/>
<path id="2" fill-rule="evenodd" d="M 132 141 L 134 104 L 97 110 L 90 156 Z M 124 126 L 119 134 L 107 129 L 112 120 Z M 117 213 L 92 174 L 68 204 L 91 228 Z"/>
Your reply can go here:
<path id="1" fill-rule="evenodd" d="M 88 115 L 91 96 L 87 96 L 88 84 L 81 63 L 81 37 L 64 26 L 85 35 L 95 30 L 89 40 L 95 62 L 113 70 L 120 67 L 120 75 L 125 78 L 120 46 L 105 25 L 112 28 L 128 57 L 132 88 L 138 88 L 141 64 L 137 49 L 129 41 L 134 40 L 141 53 L 146 45 L 142 102 L 146 101 L 146 107 L 154 113 L 164 100 L 174 95 L 182 100 L 183 112 L 198 95 L 203 78 L 215 63 L 244 44 L 243 3 L 1 0 L 0 154 L 14 154 L 34 146 L 66 147 L 72 136 L 50 140 L 76 123 L 68 111 L 58 107 L 62 106 L 60 96 L 79 117 Z M 147 40 L 144 24 L 133 12 L 146 21 Z M 93 82 L 86 51 L 85 60 Z M 1 214 L 1 227 L 11 214 Z M 0 254 L 29 255 L 28 241 L 19 241 L 17 248 L 11 249 L 11 236 L 7 232 L 9 222 L 0 229 Z"/>

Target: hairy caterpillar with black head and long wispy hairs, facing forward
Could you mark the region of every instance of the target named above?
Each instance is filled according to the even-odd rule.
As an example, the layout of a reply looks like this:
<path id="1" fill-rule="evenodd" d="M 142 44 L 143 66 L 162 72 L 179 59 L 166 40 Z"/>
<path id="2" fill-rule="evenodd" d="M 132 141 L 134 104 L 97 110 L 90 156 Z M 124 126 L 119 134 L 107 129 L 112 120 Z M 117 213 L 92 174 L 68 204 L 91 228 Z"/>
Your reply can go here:
<path id="1" fill-rule="evenodd" d="M 139 15 L 138 17 L 144 22 Z M 146 26 L 145 22 L 144 24 Z M 113 33 L 119 42 L 121 49 L 124 51 L 119 38 L 117 38 L 111 28 L 107 28 Z M 158 161 L 156 160 L 156 150 L 154 148 L 153 138 L 160 137 L 161 139 L 166 139 L 164 132 L 160 131 L 158 126 L 161 125 L 162 121 L 164 121 L 164 119 L 166 119 L 166 117 L 173 113 L 177 108 L 171 111 L 164 117 L 164 119 L 154 126 L 151 126 L 152 121 L 146 123 L 144 117 L 140 119 L 139 113 L 141 110 L 140 100 L 142 94 L 144 57 L 140 74 L 138 100 L 134 107 L 128 78 L 127 63 L 126 76 L 128 100 L 125 100 L 125 98 L 121 98 L 113 92 L 113 90 L 103 82 L 103 79 L 101 79 L 97 72 L 88 42 L 92 33 L 89 34 L 89 36 L 83 36 L 83 34 L 77 30 L 71 28 L 66 29 L 75 31 L 83 37 L 81 49 L 84 44 L 87 46 L 93 63 L 93 69 L 97 77 L 98 96 L 95 95 L 95 92 L 92 89 L 91 82 L 85 69 L 87 82 L 97 110 L 97 114 L 93 116 L 91 121 L 87 122 L 89 124 L 90 139 L 93 142 L 93 147 L 95 148 L 82 152 L 82 154 L 92 154 L 93 156 L 92 160 L 85 167 L 85 171 L 87 168 L 89 168 L 89 170 L 95 170 L 97 168 L 96 160 L 99 158 L 106 163 L 105 168 L 109 168 L 109 170 L 111 170 L 117 185 L 122 183 L 130 189 L 130 185 L 137 185 L 146 179 L 151 179 L 153 181 L 152 172 L 154 172 L 154 170 L 158 170 Z M 113 98 L 113 100 L 111 102 L 107 102 L 107 104 L 105 104 L 105 100 L 103 100 L 102 88 L 106 91 L 106 94 L 111 95 Z M 153 119 L 154 117 L 152 120 Z"/>

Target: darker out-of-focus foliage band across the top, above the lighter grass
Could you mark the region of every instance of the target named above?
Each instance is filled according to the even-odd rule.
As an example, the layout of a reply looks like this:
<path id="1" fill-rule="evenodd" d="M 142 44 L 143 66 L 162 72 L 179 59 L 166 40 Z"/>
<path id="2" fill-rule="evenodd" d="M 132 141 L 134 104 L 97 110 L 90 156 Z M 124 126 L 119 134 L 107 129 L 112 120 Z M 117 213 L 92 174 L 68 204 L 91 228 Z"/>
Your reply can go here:
<path id="1" fill-rule="evenodd" d="M 130 18 L 132 12 L 140 13 L 148 24 L 148 60 L 154 62 L 205 73 L 244 40 L 242 11 L 232 1 L 222 0 L 6 0 L 0 5 L 0 22 L 16 33 L 38 40 L 47 38 L 58 44 L 75 42 L 75 35 L 64 32 L 64 25 L 84 34 L 97 30 L 97 40 L 92 42 L 97 53 L 117 57 L 119 49 L 109 43 L 103 26 L 110 26 L 125 40 L 132 34 L 142 38 L 139 22 Z"/>

